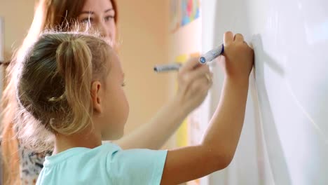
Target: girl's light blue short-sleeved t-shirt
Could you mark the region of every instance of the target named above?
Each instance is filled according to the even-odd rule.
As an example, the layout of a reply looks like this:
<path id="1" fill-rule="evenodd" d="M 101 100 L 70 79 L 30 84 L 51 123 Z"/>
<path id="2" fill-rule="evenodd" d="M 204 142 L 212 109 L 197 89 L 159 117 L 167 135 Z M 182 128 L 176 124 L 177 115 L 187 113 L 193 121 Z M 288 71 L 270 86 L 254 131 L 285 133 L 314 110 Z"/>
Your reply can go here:
<path id="1" fill-rule="evenodd" d="M 36 185 L 160 184 L 167 151 L 122 150 L 116 144 L 73 148 L 46 157 Z"/>

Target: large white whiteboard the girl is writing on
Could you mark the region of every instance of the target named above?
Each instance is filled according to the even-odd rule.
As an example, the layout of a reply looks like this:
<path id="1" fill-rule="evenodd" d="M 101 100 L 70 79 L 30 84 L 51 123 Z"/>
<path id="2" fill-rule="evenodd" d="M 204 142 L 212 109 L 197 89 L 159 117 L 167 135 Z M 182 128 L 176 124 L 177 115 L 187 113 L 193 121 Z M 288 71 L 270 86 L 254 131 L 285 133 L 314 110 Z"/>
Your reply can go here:
<path id="1" fill-rule="evenodd" d="M 210 184 L 328 184 L 328 1 L 203 1 L 203 51 L 230 30 L 255 51 L 233 163 Z M 223 75 L 210 94 L 214 112 Z M 205 122 L 204 122 L 205 123 Z"/>

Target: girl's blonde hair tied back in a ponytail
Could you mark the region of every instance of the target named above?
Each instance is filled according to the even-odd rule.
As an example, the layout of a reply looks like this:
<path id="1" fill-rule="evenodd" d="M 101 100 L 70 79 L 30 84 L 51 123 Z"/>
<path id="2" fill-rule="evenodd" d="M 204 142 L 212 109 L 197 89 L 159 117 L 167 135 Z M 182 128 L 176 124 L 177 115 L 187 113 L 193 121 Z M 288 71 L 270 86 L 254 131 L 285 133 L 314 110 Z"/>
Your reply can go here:
<path id="1" fill-rule="evenodd" d="M 107 76 L 110 49 L 90 34 L 41 34 L 17 66 L 15 125 L 25 147 L 52 149 L 54 134 L 71 135 L 91 123 L 91 83 Z"/>

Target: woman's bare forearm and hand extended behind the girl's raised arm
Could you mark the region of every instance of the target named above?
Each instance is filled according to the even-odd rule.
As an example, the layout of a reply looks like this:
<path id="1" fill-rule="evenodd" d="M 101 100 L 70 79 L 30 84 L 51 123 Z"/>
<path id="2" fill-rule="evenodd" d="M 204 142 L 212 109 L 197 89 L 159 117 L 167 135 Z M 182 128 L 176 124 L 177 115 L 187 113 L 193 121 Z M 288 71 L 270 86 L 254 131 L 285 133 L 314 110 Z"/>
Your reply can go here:
<path id="1" fill-rule="evenodd" d="M 186 62 L 178 74 L 179 90 L 175 98 L 165 104 L 149 123 L 119 139 L 116 144 L 123 149 L 160 149 L 184 118 L 205 100 L 212 85 L 205 76 L 212 76 L 207 65 L 200 65 L 197 58 Z"/>

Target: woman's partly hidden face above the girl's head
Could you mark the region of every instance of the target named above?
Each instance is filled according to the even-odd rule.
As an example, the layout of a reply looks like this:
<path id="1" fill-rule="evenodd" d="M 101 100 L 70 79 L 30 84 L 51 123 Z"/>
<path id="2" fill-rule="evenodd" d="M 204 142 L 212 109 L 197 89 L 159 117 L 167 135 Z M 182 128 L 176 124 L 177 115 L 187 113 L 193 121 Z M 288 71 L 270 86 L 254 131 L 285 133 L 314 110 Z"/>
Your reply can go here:
<path id="1" fill-rule="evenodd" d="M 97 29 L 108 41 L 116 39 L 115 11 L 110 0 L 86 0 L 78 20 Z"/>

